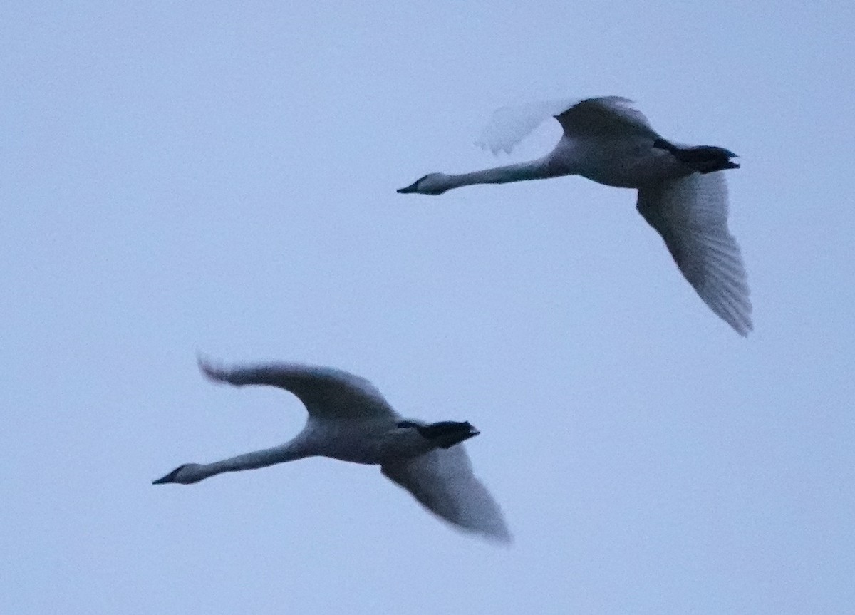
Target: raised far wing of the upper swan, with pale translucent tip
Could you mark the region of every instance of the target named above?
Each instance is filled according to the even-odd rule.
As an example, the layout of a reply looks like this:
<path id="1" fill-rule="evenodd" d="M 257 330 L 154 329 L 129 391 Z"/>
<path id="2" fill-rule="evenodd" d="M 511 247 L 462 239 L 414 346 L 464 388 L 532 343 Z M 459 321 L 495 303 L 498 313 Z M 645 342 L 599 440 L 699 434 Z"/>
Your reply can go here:
<path id="1" fill-rule="evenodd" d="M 568 137 L 634 136 L 656 139 L 647 118 L 632 107 L 632 101 L 619 96 L 552 100 L 543 103 L 503 107 L 492 115 L 475 145 L 498 154 L 510 153 L 523 137 L 554 117 Z"/>

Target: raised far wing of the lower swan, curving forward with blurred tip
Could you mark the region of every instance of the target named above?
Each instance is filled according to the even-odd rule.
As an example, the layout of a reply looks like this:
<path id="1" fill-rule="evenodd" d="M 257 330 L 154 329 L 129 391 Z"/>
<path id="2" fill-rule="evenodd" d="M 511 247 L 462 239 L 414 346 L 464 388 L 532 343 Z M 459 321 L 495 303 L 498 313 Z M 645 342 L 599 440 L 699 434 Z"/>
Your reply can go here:
<path id="1" fill-rule="evenodd" d="M 225 368 L 203 358 L 199 358 L 199 369 L 213 381 L 235 386 L 284 388 L 303 402 L 310 417 L 398 417 L 373 384 L 343 370 L 287 363 Z"/>

